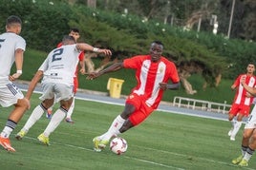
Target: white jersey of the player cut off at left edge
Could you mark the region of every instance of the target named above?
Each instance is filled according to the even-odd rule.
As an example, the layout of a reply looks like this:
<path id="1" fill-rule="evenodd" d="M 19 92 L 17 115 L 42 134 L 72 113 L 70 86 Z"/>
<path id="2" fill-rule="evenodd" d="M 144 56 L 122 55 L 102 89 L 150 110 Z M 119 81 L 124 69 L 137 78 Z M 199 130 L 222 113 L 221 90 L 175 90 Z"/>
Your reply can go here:
<path id="1" fill-rule="evenodd" d="M 26 41 L 13 32 L 5 32 L 0 35 L 0 80 L 8 79 L 11 66 L 15 60 L 15 50 L 25 51 Z"/>

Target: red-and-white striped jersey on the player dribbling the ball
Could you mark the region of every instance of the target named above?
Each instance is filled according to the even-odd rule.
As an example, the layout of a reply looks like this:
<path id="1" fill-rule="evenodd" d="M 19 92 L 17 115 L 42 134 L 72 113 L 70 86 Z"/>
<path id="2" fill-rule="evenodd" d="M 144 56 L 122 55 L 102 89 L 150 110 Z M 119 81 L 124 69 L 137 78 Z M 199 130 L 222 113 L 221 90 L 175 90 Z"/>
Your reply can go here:
<path id="1" fill-rule="evenodd" d="M 174 63 L 164 57 L 155 63 L 151 61 L 150 55 L 138 55 L 123 61 L 125 68 L 136 69 L 136 79 L 138 85 L 133 89 L 133 93 L 142 96 L 145 103 L 153 108 L 157 108 L 163 95 L 160 83 L 179 83 L 180 78 Z"/>

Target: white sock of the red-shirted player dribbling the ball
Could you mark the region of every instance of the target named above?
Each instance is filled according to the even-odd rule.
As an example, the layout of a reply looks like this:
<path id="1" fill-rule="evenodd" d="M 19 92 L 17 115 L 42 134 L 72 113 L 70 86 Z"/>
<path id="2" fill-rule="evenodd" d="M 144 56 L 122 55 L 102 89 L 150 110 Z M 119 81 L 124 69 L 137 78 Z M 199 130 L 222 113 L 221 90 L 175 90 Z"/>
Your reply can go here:
<path id="1" fill-rule="evenodd" d="M 122 124 L 125 122 L 120 115 L 113 121 L 108 131 L 99 137 L 100 140 L 109 141 L 113 136 L 117 136 L 120 132 Z"/>

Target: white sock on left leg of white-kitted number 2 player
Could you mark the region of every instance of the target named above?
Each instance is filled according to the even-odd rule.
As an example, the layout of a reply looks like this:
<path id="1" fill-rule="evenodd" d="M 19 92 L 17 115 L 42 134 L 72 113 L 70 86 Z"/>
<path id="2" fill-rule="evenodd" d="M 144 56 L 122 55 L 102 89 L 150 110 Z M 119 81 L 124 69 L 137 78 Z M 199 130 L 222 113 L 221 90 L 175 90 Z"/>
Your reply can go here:
<path id="1" fill-rule="evenodd" d="M 25 123 L 25 125 L 23 126 L 23 128 L 21 130 L 25 131 L 26 133 L 30 130 L 30 128 L 32 127 L 32 125 L 34 123 L 36 123 L 41 116 L 44 114 L 45 110 L 43 109 L 42 105 L 39 104 L 37 105 L 33 110 L 32 110 L 32 114 L 29 118 L 29 120 L 27 121 L 27 123 Z"/>

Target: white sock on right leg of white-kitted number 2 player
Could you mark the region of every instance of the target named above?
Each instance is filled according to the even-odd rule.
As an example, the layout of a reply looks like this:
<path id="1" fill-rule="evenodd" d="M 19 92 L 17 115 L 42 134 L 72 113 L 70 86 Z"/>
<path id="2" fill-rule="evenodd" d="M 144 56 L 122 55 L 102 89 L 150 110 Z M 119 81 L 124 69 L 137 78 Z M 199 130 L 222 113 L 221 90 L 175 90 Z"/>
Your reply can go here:
<path id="1" fill-rule="evenodd" d="M 55 128 L 58 126 L 58 124 L 61 123 L 61 121 L 65 118 L 66 113 L 67 113 L 67 111 L 64 110 L 63 108 L 58 108 L 55 111 L 50 123 L 48 123 L 48 125 L 44 131 L 44 135 L 46 137 L 49 137 L 51 135 L 51 133 L 55 130 Z"/>

